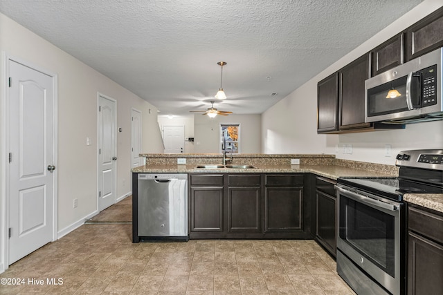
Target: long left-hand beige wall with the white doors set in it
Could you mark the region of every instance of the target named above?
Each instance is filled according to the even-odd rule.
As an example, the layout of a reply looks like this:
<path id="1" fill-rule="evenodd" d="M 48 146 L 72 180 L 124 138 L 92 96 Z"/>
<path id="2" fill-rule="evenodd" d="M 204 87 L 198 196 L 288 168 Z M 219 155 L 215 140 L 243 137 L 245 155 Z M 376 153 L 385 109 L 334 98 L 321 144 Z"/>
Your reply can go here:
<path id="1" fill-rule="evenodd" d="M 140 97 L 83 64 L 78 59 L 0 14 L 0 50 L 39 68 L 58 75 L 58 229 L 66 234 L 81 224 L 84 218 L 97 211 L 97 96 L 102 93 L 117 100 L 118 133 L 117 193 L 120 198 L 131 188 L 131 109 L 137 108 L 143 116 L 143 153 L 163 151 L 157 124 L 157 110 Z M 4 56 L 2 76 L 6 76 Z M 1 79 L 0 107 L 4 108 L 6 87 Z M 0 112 L 3 114 L 4 109 Z M 6 135 L 3 115 L 0 120 L 1 142 L 1 229 L 5 229 Z M 92 144 L 87 146 L 86 138 Z M 78 207 L 73 208 L 73 199 Z M 4 233 L 1 237 L 4 237 Z M 1 245 L 4 241 L 2 241 Z M 0 261 L 1 263 L 1 261 Z"/>

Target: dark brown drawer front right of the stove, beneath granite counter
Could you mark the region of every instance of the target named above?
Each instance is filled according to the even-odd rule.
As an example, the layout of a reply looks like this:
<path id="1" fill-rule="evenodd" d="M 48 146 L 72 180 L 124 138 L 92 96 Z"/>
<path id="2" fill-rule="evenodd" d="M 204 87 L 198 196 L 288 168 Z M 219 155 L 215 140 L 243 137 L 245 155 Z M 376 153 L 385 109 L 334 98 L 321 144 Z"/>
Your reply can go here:
<path id="1" fill-rule="evenodd" d="M 408 229 L 443 244 L 443 216 L 408 207 Z"/>

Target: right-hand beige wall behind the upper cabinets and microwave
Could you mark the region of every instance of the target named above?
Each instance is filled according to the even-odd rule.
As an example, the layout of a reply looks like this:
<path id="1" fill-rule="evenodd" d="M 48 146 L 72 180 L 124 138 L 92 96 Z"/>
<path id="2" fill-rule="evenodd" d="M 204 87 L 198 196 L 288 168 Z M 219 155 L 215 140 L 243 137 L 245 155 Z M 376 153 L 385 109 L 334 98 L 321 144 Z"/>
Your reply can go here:
<path id="1" fill-rule="evenodd" d="M 395 164 L 395 155 L 406 149 L 443 146 L 443 121 L 408 124 L 397 131 L 375 131 L 345 135 L 317 135 L 317 82 L 401 32 L 442 6 L 441 0 L 425 0 L 364 44 L 352 50 L 306 84 L 262 114 L 263 153 L 330 153 L 337 158 L 381 164 Z M 352 144 L 352 154 L 343 145 Z M 385 155 L 385 145 L 391 155 Z"/>

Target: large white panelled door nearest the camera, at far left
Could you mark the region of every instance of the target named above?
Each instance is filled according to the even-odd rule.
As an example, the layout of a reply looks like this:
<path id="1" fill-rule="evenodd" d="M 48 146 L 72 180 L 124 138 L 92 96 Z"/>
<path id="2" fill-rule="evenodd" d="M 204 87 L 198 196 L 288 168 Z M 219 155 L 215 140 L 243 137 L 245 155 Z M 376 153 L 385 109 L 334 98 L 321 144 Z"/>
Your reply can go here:
<path id="1" fill-rule="evenodd" d="M 53 240 L 55 79 L 9 60 L 9 261 Z"/>

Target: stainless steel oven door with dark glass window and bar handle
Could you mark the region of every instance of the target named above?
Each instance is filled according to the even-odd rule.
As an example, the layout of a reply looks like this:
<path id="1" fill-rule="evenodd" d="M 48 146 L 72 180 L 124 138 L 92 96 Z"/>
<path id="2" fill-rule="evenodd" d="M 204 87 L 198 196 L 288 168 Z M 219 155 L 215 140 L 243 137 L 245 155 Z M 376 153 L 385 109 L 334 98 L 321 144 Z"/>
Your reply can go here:
<path id="1" fill-rule="evenodd" d="M 336 186 L 337 248 L 388 292 L 401 282 L 402 204 Z M 337 263 L 337 268 L 339 267 Z"/>

